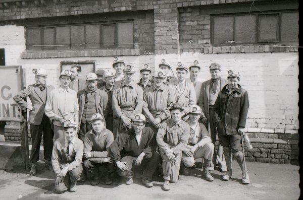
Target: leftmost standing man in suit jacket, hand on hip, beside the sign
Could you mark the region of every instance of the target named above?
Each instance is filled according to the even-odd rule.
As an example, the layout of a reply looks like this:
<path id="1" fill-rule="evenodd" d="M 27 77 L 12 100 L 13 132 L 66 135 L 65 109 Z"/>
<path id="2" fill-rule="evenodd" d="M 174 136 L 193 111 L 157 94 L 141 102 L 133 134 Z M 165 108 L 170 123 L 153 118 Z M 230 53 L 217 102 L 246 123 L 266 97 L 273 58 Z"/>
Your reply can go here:
<path id="1" fill-rule="evenodd" d="M 53 170 L 51 165 L 54 132 L 51 128 L 51 120 L 45 115 L 44 107 L 47 96 L 54 90 L 54 86 L 46 84 L 47 72 L 40 68 L 34 69 L 35 84 L 29 85 L 26 89 L 21 90 L 14 96 L 14 100 L 23 109 L 29 110 L 30 134 L 32 139 L 32 149 L 29 162 L 31 163 L 30 174 L 36 175 L 36 163 L 39 160 L 40 143 L 43 132 L 43 148 L 45 169 Z M 29 97 L 32 105 L 28 104 L 24 99 Z"/>

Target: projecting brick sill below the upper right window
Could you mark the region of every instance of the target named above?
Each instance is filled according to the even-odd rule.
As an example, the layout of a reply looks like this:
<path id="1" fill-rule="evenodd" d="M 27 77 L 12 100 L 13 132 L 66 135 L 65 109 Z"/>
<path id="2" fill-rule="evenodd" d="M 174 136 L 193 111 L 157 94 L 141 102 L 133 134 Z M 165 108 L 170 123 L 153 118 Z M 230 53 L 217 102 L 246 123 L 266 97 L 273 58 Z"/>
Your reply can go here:
<path id="1" fill-rule="evenodd" d="M 204 53 L 264 53 L 264 52 L 298 52 L 298 47 L 292 46 L 211 46 L 204 47 Z"/>

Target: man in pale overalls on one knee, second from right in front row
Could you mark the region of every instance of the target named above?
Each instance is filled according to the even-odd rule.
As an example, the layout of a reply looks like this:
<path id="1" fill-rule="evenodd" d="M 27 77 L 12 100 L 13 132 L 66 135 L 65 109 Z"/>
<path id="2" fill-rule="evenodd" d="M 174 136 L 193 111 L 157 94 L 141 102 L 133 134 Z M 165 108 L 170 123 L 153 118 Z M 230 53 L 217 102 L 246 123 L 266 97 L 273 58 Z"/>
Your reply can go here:
<path id="1" fill-rule="evenodd" d="M 170 190 L 169 183 L 177 182 L 181 165 L 182 151 L 186 148 L 190 127 L 181 119 L 182 106 L 172 103 L 171 118 L 162 122 L 157 133 L 157 144 L 162 156 L 163 190 Z"/>

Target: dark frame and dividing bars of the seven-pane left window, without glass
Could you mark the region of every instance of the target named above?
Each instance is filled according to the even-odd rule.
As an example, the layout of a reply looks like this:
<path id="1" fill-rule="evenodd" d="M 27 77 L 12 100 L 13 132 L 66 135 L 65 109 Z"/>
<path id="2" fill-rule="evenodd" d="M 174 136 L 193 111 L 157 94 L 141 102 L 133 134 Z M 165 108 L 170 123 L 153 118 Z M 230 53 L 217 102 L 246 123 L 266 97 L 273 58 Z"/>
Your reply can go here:
<path id="1" fill-rule="evenodd" d="M 133 44 L 132 46 L 130 47 L 118 47 L 118 23 L 124 23 L 124 22 L 130 22 L 132 23 L 132 29 L 133 29 Z M 99 26 L 99 45 L 98 47 L 96 48 L 86 48 L 86 25 L 98 25 Z M 103 45 L 103 26 L 104 25 L 109 25 L 109 24 L 115 24 L 115 44 L 114 45 L 111 45 L 111 46 L 107 46 L 107 47 L 104 47 Z M 84 48 L 71 48 L 71 26 L 78 26 L 78 25 L 83 25 L 84 26 Z M 69 27 L 69 31 L 70 31 L 70 46 L 68 49 L 57 49 L 56 47 L 56 28 L 57 27 L 64 27 L 64 26 L 68 26 Z M 31 29 L 31 28 L 39 28 L 40 29 L 40 40 L 41 40 L 41 47 L 40 49 L 28 49 L 28 29 Z M 45 49 L 43 47 L 44 45 L 44 29 L 51 29 L 51 28 L 54 28 L 54 48 L 53 49 Z M 88 50 L 88 49 L 91 49 L 91 50 L 96 50 L 96 49 L 134 49 L 135 47 L 135 38 L 134 38 L 134 34 L 135 34 L 135 30 L 134 30 L 134 19 L 131 19 L 131 20 L 119 20 L 119 21 L 106 21 L 106 22 L 91 22 L 91 23 L 87 23 L 87 22 L 83 22 L 83 23 L 69 23 L 69 24 L 58 24 L 58 25 L 36 25 L 36 26 L 25 26 L 25 32 L 26 32 L 26 38 L 25 38 L 25 45 L 26 45 L 26 50 L 27 51 L 52 51 L 52 50 Z"/>

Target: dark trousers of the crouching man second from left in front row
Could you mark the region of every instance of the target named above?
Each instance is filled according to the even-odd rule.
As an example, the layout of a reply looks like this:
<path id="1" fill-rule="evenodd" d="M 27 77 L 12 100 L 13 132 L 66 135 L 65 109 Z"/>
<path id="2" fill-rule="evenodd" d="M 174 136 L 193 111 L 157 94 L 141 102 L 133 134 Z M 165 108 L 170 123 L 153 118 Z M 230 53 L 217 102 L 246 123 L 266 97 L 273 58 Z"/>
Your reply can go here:
<path id="1" fill-rule="evenodd" d="M 100 170 L 100 172 L 106 172 L 111 174 L 113 172 L 113 164 L 112 163 L 96 163 L 90 160 L 85 160 L 83 162 L 83 165 L 85 167 L 85 170 L 89 173 L 89 174 L 96 174 L 98 172 L 98 169 Z"/>

